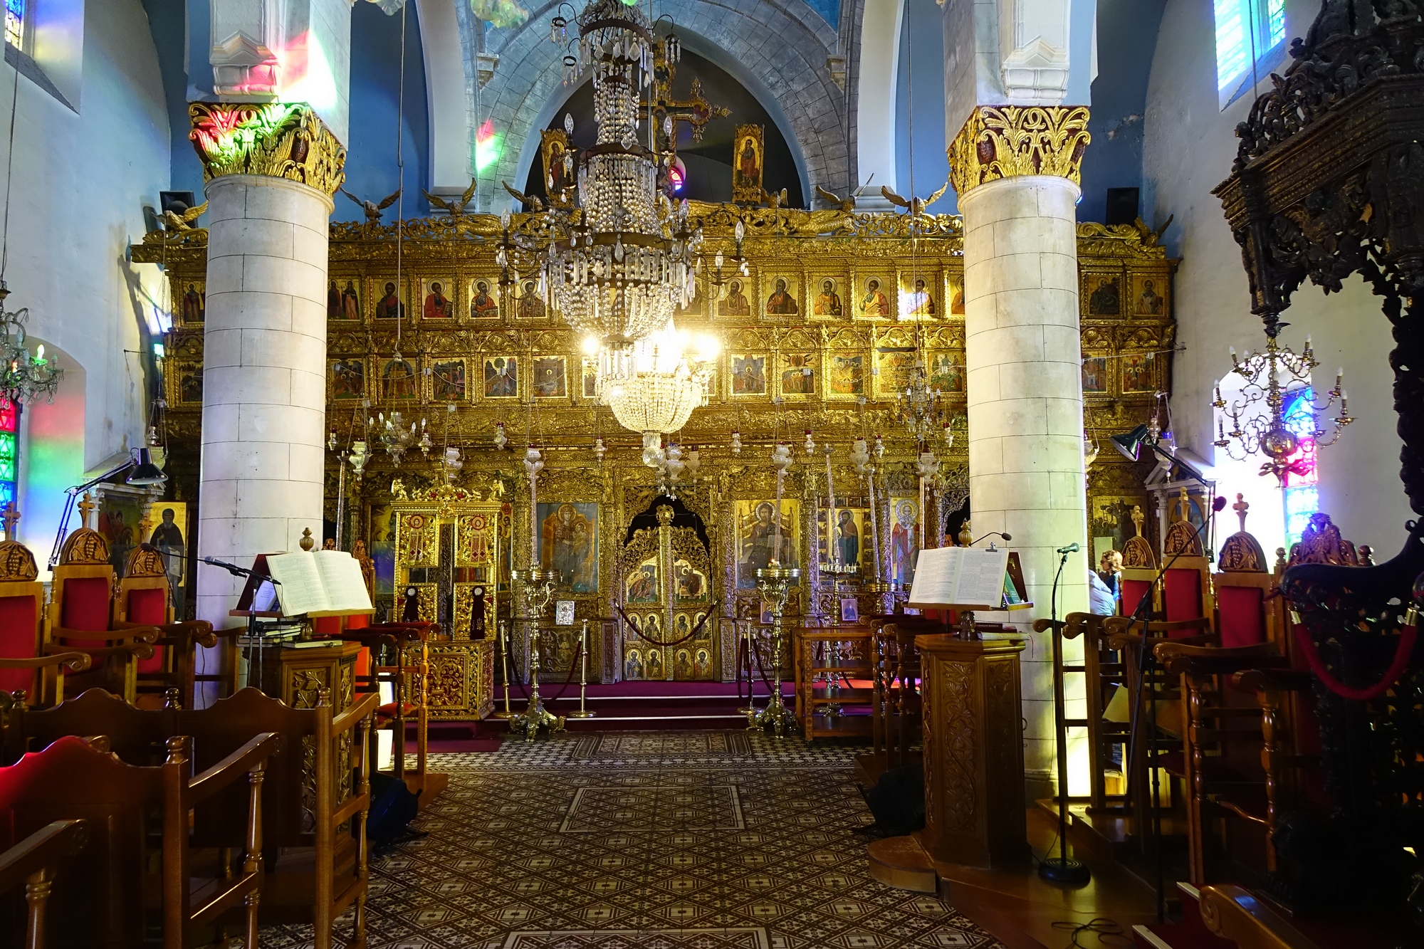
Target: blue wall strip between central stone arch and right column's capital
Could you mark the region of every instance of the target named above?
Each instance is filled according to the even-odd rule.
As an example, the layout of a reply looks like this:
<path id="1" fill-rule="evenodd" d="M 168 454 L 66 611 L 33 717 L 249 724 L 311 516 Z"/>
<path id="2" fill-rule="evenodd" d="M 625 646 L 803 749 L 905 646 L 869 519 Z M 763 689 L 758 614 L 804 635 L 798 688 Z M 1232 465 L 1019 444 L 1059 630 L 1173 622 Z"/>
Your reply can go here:
<path id="1" fill-rule="evenodd" d="M 944 154 L 944 14 L 934 0 L 904 0 L 904 19 L 900 27 L 894 124 L 896 177 L 899 192 L 906 198 L 910 197 L 911 98 L 914 100 L 914 191 L 918 197 L 928 197 L 950 177 L 950 160 Z M 862 104 L 862 108 L 864 107 Z M 880 184 L 871 181 L 866 192 L 879 195 Z M 946 191 L 930 209 L 936 214 L 954 214 L 957 209 L 954 188 Z"/>

